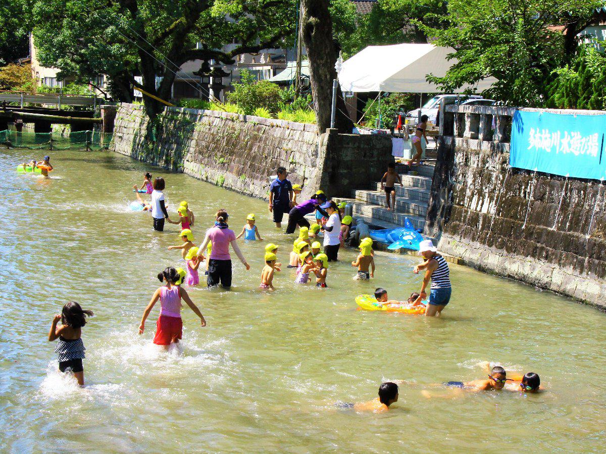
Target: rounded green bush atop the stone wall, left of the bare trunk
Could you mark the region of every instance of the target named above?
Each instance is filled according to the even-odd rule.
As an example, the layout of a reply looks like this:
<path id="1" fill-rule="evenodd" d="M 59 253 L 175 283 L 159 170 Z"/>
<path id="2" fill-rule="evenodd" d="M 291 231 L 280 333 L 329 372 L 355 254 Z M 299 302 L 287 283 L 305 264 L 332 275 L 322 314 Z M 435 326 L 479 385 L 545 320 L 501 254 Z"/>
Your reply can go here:
<path id="1" fill-rule="evenodd" d="M 233 84 L 233 90 L 227 93 L 227 99 L 238 105 L 245 115 L 253 115 L 256 108 L 266 108 L 269 112 L 278 110 L 280 87 L 268 81 L 256 82 L 248 70 L 241 70 L 240 82 Z"/>

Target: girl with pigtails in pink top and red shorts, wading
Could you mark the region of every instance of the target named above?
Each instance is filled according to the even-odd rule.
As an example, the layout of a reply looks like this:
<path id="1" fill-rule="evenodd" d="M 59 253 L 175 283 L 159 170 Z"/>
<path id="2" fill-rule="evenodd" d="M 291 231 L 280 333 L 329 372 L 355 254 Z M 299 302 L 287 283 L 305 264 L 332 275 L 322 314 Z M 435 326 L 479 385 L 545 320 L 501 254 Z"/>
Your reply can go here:
<path id="1" fill-rule="evenodd" d="M 199 316 L 202 326 L 206 326 L 206 321 L 198 306 L 191 301 L 185 289 L 176 285 L 176 282 L 181 281 L 181 276 L 179 276 L 176 269 L 168 267 L 163 272 L 158 273 L 158 279 L 161 282 L 166 282 L 166 284 L 154 292 L 151 301 L 145 308 L 141 325 L 139 325 L 139 334 L 143 334 L 145 331 L 145 320 L 147 320 L 151 309 L 153 309 L 159 299 L 161 309 L 158 322 L 156 322 L 156 335 L 153 338 L 153 343 L 158 346 L 164 346 L 164 349 L 168 349 L 171 343 L 178 343 L 182 336 L 181 299 Z"/>

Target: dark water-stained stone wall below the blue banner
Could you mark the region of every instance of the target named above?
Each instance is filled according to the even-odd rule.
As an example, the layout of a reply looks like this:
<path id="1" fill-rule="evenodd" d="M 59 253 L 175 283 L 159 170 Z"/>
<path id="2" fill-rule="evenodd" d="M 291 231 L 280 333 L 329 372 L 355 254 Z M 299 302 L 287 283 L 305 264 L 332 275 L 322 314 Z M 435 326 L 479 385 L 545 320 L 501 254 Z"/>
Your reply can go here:
<path id="1" fill-rule="evenodd" d="M 606 309 L 606 186 L 510 169 L 504 136 L 441 138 L 425 233 L 479 270 Z"/>

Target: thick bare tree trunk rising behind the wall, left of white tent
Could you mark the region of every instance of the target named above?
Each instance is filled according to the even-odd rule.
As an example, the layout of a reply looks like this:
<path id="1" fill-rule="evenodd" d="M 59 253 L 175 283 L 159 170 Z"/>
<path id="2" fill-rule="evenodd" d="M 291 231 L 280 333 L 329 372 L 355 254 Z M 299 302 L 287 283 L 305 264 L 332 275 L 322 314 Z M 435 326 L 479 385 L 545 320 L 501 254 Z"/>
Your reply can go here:
<path id="1" fill-rule="evenodd" d="M 333 25 L 328 12 L 329 0 L 301 0 L 302 35 L 307 58 L 311 95 L 316 111 L 318 132 L 330 128 L 332 108 L 333 80 L 337 78 L 335 63 L 338 54 L 333 41 Z M 351 133 L 353 122 L 347 115 L 341 87 L 337 92 L 335 127 L 342 133 Z"/>

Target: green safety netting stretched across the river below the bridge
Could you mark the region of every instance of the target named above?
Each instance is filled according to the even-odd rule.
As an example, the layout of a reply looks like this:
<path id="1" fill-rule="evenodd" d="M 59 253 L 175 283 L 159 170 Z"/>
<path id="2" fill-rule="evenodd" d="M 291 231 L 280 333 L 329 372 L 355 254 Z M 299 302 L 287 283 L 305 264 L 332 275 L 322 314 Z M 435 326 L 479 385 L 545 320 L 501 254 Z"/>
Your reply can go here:
<path id="1" fill-rule="evenodd" d="M 76 131 L 68 135 L 49 132 L 0 131 L 0 144 L 30 150 L 100 150 L 109 146 L 112 134 Z"/>

